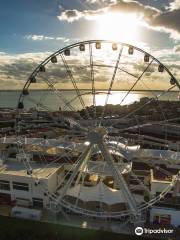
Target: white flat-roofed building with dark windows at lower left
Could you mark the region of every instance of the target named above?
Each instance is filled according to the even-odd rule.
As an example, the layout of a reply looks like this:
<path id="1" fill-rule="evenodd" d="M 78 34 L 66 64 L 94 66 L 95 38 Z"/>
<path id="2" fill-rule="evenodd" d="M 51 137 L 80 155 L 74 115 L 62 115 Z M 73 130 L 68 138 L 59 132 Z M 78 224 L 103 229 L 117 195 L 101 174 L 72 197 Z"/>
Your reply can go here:
<path id="1" fill-rule="evenodd" d="M 0 166 L 0 202 L 15 202 L 21 206 L 46 208 L 49 204 L 48 192 L 53 193 L 63 174 L 56 165 L 31 163 L 33 175 L 27 174 L 24 164 L 7 161 Z M 38 179 L 36 177 L 38 176 Z"/>

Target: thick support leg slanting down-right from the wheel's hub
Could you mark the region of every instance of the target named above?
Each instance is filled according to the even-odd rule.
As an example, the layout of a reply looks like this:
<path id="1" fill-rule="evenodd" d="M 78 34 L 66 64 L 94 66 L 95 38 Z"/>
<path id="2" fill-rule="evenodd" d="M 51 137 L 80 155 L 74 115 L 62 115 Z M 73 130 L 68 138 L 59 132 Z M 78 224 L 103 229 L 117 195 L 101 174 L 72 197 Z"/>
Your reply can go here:
<path id="1" fill-rule="evenodd" d="M 138 216 L 138 209 L 136 206 L 136 201 L 135 201 L 133 195 L 131 194 L 122 174 L 115 167 L 111 154 L 109 153 L 108 149 L 106 148 L 106 146 L 103 142 L 99 143 L 98 147 L 101 150 L 103 157 L 107 161 L 110 169 L 112 170 L 112 175 L 113 175 L 114 179 L 117 181 L 119 189 L 122 189 L 123 195 L 128 202 L 128 205 L 132 211 L 132 214 L 134 216 Z"/>

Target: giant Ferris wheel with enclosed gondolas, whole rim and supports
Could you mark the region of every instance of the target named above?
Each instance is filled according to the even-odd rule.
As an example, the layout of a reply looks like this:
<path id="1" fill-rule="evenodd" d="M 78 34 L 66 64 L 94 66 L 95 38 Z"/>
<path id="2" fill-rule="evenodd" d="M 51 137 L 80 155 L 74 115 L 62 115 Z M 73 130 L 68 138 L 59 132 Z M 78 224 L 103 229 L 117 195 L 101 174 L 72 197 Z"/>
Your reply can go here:
<path id="1" fill-rule="evenodd" d="M 178 118 L 173 109 L 179 89 L 165 65 L 126 43 L 78 42 L 42 61 L 22 89 L 18 113 L 34 109 L 46 119 L 38 125 L 46 131 L 43 137 L 38 130 L 25 131 L 19 117 L 16 132 L 23 154 L 30 148 L 22 139 L 40 139 L 34 161 L 44 161 L 42 171 L 53 164 L 65 169 L 53 192 L 42 186 L 50 209 L 137 217 L 162 199 L 179 176 L 169 170 L 178 161 L 178 148 L 171 148 L 177 136 L 169 129 Z M 28 158 L 25 166 L 38 184 Z M 158 194 L 151 192 L 155 175 L 169 179 Z"/>

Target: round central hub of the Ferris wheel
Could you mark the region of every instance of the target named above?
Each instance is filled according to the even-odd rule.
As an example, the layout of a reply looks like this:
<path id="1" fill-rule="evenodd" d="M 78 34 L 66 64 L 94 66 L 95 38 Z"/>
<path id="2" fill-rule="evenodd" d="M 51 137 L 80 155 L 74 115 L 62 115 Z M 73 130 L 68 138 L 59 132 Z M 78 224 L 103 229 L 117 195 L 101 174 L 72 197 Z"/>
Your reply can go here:
<path id="1" fill-rule="evenodd" d="M 97 144 L 103 141 L 107 131 L 104 127 L 96 127 L 88 134 L 88 139 L 91 143 Z"/>

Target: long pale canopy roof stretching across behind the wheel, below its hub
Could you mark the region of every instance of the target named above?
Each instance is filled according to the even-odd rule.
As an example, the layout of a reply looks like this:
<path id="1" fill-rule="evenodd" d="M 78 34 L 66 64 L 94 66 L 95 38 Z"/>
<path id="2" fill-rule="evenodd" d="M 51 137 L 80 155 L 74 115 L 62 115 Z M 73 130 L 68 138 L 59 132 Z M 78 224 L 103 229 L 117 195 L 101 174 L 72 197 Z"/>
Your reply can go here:
<path id="1" fill-rule="evenodd" d="M 12 144 L 16 143 L 16 138 L 0 138 L 0 144 Z M 84 143 L 67 142 L 64 138 L 61 139 L 43 139 L 43 138 L 22 138 L 22 144 L 54 147 L 58 149 L 69 149 L 76 151 L 84 150 Z M 171 150 L 155 150 L 155 149 L 140 149 L 139 145 L 127 146 L 124 143 L 116 141 L 108 141 L 107 146 L 110 150 L 113 150 L 114 154 L 124 156 L 131 160 L 133 158 L 160 158 L 163 160 L 175 160 L 179 161 L 180 153 Z M 114 151 L 115 150 L 115 151 Z M 94 152 L 95 153 L 95 152 Z"/>

